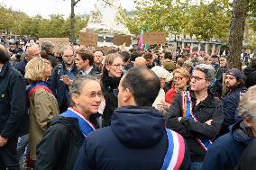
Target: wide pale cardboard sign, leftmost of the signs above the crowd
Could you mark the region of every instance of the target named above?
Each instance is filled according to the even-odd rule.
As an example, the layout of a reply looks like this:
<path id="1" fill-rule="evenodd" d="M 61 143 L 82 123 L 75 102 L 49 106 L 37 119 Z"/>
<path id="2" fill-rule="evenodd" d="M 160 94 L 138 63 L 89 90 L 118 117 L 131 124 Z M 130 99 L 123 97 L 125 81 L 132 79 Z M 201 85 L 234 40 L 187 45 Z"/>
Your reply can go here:
<path id="1" fill-rule="evenodd" d="M 44 41 L 51 41 L 55 45 L 53 51 L 60 52 L 64 46 L 70 45 L 69 38 L 39 38 L 39 47 Z"/>

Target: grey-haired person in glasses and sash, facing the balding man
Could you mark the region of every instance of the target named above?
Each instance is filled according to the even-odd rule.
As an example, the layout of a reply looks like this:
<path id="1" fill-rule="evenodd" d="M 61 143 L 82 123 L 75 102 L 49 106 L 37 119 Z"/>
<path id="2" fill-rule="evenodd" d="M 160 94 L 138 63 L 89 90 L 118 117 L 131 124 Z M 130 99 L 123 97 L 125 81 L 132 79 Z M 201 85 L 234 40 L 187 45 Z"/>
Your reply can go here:
<path id="1" fill-rule="evenodd" d="M 77 76 L 70 85 L 70 106 L 50 121 L 50 128 L 37 146 L 35 170 L 73 169 L 87 135 L 96 130 L 94 114 L 103 94 L 94 76 Z"/>

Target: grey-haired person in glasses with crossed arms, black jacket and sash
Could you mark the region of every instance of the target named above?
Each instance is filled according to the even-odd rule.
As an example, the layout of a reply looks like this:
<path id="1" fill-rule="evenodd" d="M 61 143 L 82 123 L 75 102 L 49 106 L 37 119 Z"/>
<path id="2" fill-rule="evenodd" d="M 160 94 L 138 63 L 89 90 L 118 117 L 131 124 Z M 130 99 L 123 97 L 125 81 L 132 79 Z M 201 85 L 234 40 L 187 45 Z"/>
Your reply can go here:
<path id="1" fill-rule="evenodd" d="M 214 67 L 201 64 L 190 77 L 191 90 L 177 94 L 169 107 L 167 128 L 177 131 L 187 141 L 191 169 L 200 169 L 212 140 L 223 122 L 223 104 L 208 93 L 215 75 Z"/>

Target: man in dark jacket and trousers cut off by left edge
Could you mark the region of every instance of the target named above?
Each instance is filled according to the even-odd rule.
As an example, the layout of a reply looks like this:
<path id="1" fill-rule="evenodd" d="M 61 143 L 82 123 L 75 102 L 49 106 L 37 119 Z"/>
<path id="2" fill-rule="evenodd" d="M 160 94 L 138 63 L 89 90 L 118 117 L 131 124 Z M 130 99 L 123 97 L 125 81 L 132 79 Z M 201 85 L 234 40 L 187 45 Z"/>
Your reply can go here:
<path id="1" fill-rule="evenodd" d="M 0 169 L 20 169 L 16 145 L 28 130 L 25 92 L 23 76 L 11 66 L 5 47 L 0 45 Z"/>

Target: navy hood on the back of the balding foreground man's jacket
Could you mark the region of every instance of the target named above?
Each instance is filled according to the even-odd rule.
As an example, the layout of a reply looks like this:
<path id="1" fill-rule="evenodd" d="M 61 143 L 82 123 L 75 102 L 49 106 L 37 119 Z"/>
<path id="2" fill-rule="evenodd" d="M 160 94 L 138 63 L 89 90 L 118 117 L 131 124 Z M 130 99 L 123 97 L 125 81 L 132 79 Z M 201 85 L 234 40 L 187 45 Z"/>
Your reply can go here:
<path id="1" fill-rule="evenodd" d="M 125 146 L 148 148 L 163 137 L 165 118 L 152 107 L 119 107 L 114 111 L 111 130 Z"/>

